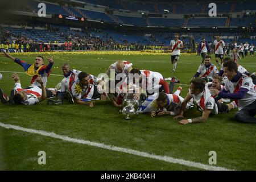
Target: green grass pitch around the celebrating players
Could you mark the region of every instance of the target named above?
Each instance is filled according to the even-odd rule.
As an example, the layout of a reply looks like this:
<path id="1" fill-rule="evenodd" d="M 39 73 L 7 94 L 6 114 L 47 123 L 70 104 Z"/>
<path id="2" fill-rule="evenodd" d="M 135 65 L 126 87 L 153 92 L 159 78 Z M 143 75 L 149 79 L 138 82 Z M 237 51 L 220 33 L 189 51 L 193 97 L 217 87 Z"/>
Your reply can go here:
<path id="1" fill-rule="evenodd" d="M 36 53 L 15 55 L 28 63 Z M 44 57 L 49 56 L 42 53 Z M 181 96 L 188 92 L 188 84 L 200 65 L 201 57 L 181 55 L 175 73 L 171 73 L 170 55 L 154 54 L 82 54 L 53 53 L 52 74 L 62 75 L 61 65 L 88 72 L 94 76 L 105 72 L 116 60 L 128 60 L 134 68 L 176 76 L 181 80 Z M 212 55 L 213 56 L 213 55 Z M 45 59 L 46 60 L 46 59 Z M 48 64 L 48 61 L 45 61 Z M 213 59 L 213 64 L 215 61 Z M 238 61 L 248 71 L 256 71 L 254 57 Z M 23 72 L 23 68 L 0 56 L 0 72 Z M 9 93 L 14 82 L 9 72 L 1 72 L 0 88 Z M 30 77 L 19 73 L 22 86 L 28 86 Z M 62 76 L 51 75 L 47 87 L 54 88 Z M 44 130 L 72 138 L 130 148 L 155 155 L 208 164 L 209 151 L 217 152 L 217 166 L 236 170 L 256 169 L 256 125 L 233 120 L 237 110 L 228 114 L 212 115 L 205 123 L 179 125 L 171 116 L 151 118 L 148 114 L 133 116 L 126 121 L 119 109 L 109 101 L 97 101 L 93 108 L 81 105 L 34 106 L 3 105 L 0 103 L 0 122 L 28 129 Z M 185 111 L 185 118 L 199 117 L 196 110 Z M 199 170 L 181 164 L 110 151 L 103 148 L 65 142 L 0 127 L 0 169 L 4 170 Z M 38 152 L 46 152 L 46 165 L 38 164 Z"/>

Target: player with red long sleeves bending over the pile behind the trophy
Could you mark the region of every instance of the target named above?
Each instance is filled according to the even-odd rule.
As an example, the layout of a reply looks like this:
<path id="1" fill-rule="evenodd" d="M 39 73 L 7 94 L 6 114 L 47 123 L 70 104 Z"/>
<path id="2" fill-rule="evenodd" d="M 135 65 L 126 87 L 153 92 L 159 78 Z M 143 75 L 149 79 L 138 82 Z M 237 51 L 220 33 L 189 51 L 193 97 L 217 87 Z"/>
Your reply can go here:
<path id="1" fill-rule="evenodd" d="M 170 93 L 168 83 L 164 81 L 163 76 L 158 72 L 133 68 L 130 71 L 130 74 L 133 74 L 134 78 L 133 80 L 129 80 L 129 82 L 139 84 L 137 86 L 143 90 L 146 90 L 148 96 L 159 92 L 165 92 L 167 94 Z M 138 77 L 136 77 L 135 74 L 137 74 Z M 139 100 L 140 96 L 141 93 L 135 93 L 134 98 Z"/>

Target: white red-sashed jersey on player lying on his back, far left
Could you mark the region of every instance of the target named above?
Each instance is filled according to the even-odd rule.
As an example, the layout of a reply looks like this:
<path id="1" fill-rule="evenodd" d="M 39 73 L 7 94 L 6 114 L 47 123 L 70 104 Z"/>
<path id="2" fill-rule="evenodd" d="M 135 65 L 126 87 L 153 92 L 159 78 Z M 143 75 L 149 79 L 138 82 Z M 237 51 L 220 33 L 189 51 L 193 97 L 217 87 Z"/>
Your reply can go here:
<path id="1" fill-rule="evenodd" d="M 42 89 L 40 89 L 38 86 L 31 86 L 29 89 L 22 89 L 20 83 L 15 83 L 14 90 L 17 92 L 26 91 L 26 99 L 22 102 L 24 105 L 38 104 L 38 97 L 42 95 Z"/>

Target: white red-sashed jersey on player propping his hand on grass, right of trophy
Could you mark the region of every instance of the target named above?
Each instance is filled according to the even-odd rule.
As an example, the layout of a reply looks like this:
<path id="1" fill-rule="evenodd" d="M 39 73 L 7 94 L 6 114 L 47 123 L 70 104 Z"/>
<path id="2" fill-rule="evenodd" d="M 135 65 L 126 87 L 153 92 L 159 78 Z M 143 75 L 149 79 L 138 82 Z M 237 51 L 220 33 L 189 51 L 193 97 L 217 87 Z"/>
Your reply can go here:
<path id="1" fill-rule="evenodd" d="M 205 86 L 204 91 L 197 94 L 197 96 L 195 96 L 195 94 L 191 94 L 190 90 L 189 94 L 193 97 L 193 101 L 196 102 L 196 105 L 201 111 L 204 111 L 204 109 L 209 109 L 212 110 L 211 114 L 218 114 L 218 107 L 207 86 Z"/>

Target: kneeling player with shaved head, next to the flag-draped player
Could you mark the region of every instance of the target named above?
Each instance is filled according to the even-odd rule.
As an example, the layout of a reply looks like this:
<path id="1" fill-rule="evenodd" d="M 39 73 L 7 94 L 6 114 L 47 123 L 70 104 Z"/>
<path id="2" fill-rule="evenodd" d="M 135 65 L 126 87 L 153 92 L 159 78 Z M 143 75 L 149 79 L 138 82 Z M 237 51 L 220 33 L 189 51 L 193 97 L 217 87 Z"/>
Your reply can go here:
<path id="1" fill-rule="evenodd" d="M 78 80 L 78 75 L 79 73 L 81 73 L 81 71 L 78 71 L 76 69 L 70 69 L 69 64 L 67 63 L 62 66 L 62 71 L 64 78 L 61 81 L 60 92 L 57 92 L 58 100 L 48 100 L 48 104 L 60 105 L 63 103 L 63 100 L 65 98 L 69 101 L 69 103 L 74 104 L 74 100 L 71 94 L 71 88 L 74 82 Z"/>

